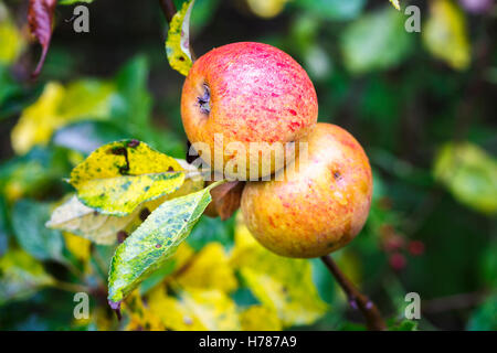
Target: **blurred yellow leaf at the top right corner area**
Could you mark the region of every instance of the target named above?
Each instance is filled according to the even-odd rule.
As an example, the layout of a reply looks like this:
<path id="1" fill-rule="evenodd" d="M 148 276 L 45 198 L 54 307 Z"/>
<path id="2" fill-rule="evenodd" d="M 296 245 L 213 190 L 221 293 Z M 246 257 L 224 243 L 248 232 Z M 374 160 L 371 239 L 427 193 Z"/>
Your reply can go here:
<path id="1" fill-rule="evenodd" d="M 430 2 L 430 18 L 422 31 L 426 49 L 455 69 L 468 67 L 470 49 L 463 12 L 450 0 Z"/>

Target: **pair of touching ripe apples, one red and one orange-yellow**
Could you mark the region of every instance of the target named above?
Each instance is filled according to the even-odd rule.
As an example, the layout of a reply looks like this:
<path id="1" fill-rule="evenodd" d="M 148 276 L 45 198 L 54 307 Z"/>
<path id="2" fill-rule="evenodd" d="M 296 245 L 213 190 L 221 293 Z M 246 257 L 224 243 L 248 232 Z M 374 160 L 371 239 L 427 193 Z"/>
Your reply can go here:
<path id="1" fill-rule="evenodd" d="M 237 164 L 239 171 L 255 165 L 260 178 L 273 174 L 271 181 L 246 183 L 241 207 L 257 240 L 282 256 L 317 257 L 342 247 L 360 232 L 371 204 L 372 175 L 364 151 L 343 129 L 317 124 L 317 114 L 306 72 L 267 44 L 214 49 L 193 64 L 183 85 L 183 127 L 193 146 L 209 146 L 205 162 L 233 176 L 225 167 L 237 156 L 216 143 L 214 136 L 222 135 L 223 143 L 246 147 L 247 162 Z M 260 152 L 250 148 L 260 142 L 282 143 L 285 168 L 277 170 L 272 161 L 266 173 L 261 172 Z M 296 142 L 307 143 L 305 156 L 289 149 Z M 214 162 L 216 154 L 221 163 Z"/>

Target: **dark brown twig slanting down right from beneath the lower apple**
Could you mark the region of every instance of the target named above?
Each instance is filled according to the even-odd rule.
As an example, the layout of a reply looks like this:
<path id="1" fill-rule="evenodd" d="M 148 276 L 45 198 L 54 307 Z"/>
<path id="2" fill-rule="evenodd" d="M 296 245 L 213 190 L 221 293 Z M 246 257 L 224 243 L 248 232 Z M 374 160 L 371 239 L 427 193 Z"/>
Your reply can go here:
<path id="1" fill-rule="evenodd" d="M 345 293 L 347 295 L 349 304 L 353 309 L 359 309 L 361 311 L 362 315 L 366 319 L 368 330 L 385 330 L 387 325 L 383 318 L 381 317 L 380 310 L 378 310 L 377 306 L 367 296 L 361 293 L 359 289 L 357 289 L 357 287 L 343 275 L 331 256 L 322 256 L 321 260 L 335 277 L 337 282 L 340 285 L 341 289 L 343 289 Z"/>

